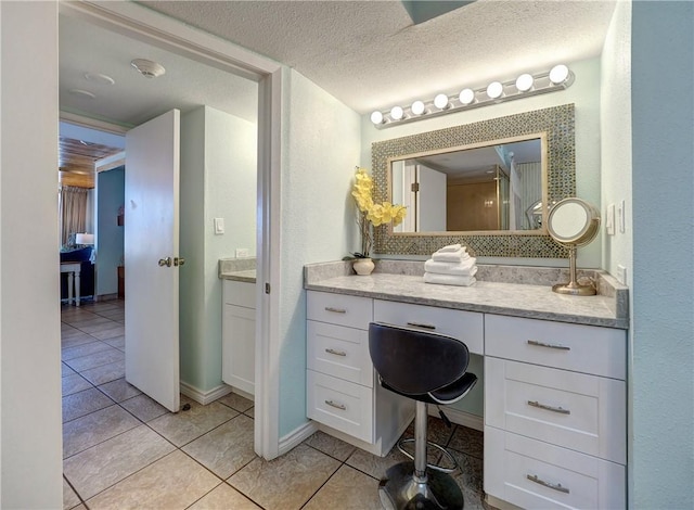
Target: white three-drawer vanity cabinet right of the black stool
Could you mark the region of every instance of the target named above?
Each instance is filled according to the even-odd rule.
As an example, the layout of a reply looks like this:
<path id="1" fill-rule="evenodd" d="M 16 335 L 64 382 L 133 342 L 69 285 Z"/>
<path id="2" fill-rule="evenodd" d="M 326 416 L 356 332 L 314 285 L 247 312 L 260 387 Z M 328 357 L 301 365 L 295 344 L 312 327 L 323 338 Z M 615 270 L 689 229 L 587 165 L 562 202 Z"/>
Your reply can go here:
<path id="1" fill-rule="evenodd" d="M 485 492 L 626 507 L 626 332 L 485 315 Z"/>

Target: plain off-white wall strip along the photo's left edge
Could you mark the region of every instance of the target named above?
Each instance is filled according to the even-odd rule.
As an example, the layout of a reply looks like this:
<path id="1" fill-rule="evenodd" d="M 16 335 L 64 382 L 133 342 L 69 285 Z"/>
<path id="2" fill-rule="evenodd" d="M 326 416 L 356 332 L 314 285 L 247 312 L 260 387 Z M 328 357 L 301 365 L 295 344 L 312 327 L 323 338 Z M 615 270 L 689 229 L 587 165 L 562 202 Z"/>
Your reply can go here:
<path id="1" fill-rule="evenodd" d="M 57 3 L 0 2 L 0 507 L 62 508 Z"/>

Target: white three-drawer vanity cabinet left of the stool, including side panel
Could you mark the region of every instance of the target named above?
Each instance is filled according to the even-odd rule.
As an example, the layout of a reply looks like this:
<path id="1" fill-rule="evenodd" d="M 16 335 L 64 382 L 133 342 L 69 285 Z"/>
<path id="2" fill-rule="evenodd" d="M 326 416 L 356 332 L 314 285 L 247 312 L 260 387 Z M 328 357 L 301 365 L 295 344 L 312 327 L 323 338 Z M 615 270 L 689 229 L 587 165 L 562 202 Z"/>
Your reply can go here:
<path id="1" fill-rule="evenodd" d="M 307 416 L 332 435 L 386 455 L 413 405 L 383 390 L 369 355 L 373 299 L 307 292 Z"/>

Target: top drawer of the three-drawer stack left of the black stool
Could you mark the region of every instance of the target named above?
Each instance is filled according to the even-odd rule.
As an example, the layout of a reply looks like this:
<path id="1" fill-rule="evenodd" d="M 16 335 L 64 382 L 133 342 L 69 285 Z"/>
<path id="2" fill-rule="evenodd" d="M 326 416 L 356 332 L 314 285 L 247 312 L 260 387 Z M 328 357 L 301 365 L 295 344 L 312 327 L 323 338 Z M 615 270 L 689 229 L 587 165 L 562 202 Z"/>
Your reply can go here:
<path id="1" fill-rule="evenodd" d="M 306 315 L 310 320 L 368 330 L 373 304 L 369 297 L 307 291 Z"/>

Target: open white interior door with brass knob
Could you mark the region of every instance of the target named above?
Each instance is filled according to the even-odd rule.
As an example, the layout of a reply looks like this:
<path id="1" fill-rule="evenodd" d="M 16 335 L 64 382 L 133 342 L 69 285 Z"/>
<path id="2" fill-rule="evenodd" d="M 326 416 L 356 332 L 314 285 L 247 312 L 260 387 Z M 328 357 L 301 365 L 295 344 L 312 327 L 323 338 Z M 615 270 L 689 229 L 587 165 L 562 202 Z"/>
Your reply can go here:
<path id="1" fill-rule="evenodd" d="M 178 110 L 128 131 L 125 187 L 126 380 L 174 412 L 180 407 L 179 133 Z"/>

